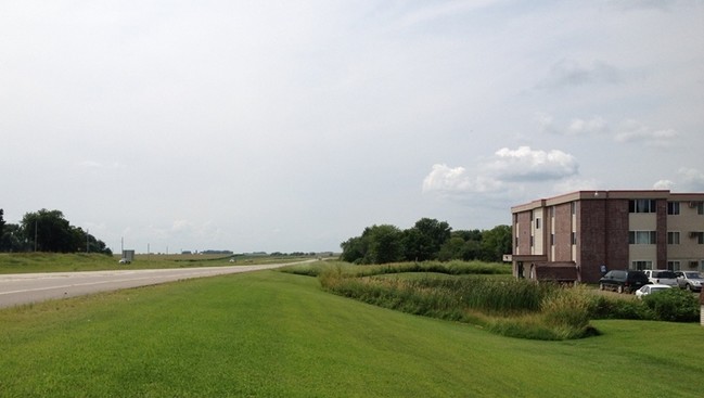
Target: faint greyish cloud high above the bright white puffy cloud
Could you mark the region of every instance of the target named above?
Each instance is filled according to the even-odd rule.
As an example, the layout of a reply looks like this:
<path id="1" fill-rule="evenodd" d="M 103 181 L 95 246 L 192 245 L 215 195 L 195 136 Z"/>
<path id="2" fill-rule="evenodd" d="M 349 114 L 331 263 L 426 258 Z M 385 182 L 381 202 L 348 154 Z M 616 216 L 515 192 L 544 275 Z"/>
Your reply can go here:
<path id="1" fill-rule="evenodd" d="M 540 89 L 555 89 L 586 85 L 614 85 L 624 81 L 618 68 L 602 61 L 584 66 L 576 61 L 561 60 L 550 67 L 548 76 L 539 84 Z"/>

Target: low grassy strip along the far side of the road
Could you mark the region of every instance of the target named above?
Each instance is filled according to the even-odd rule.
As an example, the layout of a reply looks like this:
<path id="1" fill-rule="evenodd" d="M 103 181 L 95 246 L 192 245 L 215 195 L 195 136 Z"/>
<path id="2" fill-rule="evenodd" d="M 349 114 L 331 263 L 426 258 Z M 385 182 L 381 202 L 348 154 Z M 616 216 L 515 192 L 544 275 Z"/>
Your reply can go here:
<path id="1" fill-rule="evenodd" d="M 235 262 L 229 262 L 234 258 Z M 222 256 L 222 255 L 137 255 L 129 265 L 119 257 L 100 254 L 0 253 L 0 273 L 104 271 L 115 269 L 162 269 L 291 262 L 311 257 Z"/>

